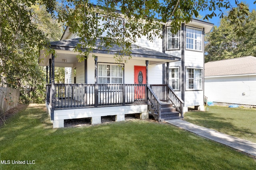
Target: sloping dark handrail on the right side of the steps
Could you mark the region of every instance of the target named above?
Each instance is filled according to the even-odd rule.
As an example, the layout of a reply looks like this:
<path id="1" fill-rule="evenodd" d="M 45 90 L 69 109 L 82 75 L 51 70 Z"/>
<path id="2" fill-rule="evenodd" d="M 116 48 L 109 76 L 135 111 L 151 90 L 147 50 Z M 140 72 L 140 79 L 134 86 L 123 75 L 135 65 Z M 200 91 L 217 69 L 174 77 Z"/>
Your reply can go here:
<path id="1" fill-rule="evenodd" d="M 167 84 L 167 89 L 168 89 L 168 100 L 172 102 L 176 110 L 180 112 L 181 117 L 183 117 L 184 101 L 181 98 L 179 98 L 179 96 L 174 92 L 174 90 L 171 88 L 169 84 Z"/>

